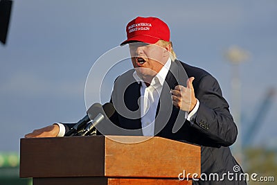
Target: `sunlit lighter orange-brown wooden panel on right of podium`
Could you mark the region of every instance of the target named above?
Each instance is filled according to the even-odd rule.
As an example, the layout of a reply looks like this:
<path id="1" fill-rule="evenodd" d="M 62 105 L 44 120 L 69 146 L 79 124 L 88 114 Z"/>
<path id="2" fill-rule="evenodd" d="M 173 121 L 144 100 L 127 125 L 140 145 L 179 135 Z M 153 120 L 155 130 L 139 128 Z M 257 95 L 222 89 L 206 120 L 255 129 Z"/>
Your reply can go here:
<path id="1" fill-rule="evenodd" d="M 139 142 L 140 139 L 144 141 Z M 186 174 L 197 173 L 198 178 L 201 174 L 199 146 L 161 137 L 145 139 L 140 136 L 106 136 L 105 142 L 106 177 L 178 179 L 184 170 Z M 192 178 L 191 175 L 188 177 Z"/>

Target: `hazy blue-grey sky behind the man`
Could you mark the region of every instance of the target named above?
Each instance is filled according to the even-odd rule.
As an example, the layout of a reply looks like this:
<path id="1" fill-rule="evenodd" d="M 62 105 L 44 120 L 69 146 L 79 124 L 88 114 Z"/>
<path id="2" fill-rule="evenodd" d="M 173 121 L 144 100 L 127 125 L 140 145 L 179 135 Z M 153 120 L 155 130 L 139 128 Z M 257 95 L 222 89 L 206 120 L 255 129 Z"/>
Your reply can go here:
<path id="1" fill-rule="evenodd" d="M 215 76 L 231 112 L 232 65 L 223 55 L 233 45 L 249 51 L 240 64 L 240 134 L 265 115 L 251 146 L 277 148 L 276 96 L 267 112 L 259 109 L 267 90 L 277 89 L 277 1 L 14 0 L 8 41 L 0 45 L 0 150 L 18 151 L 24 134 L 82 118 L 93 62 L 125 40 L 137 16 L 168 23 L 179 60 Z"/>

